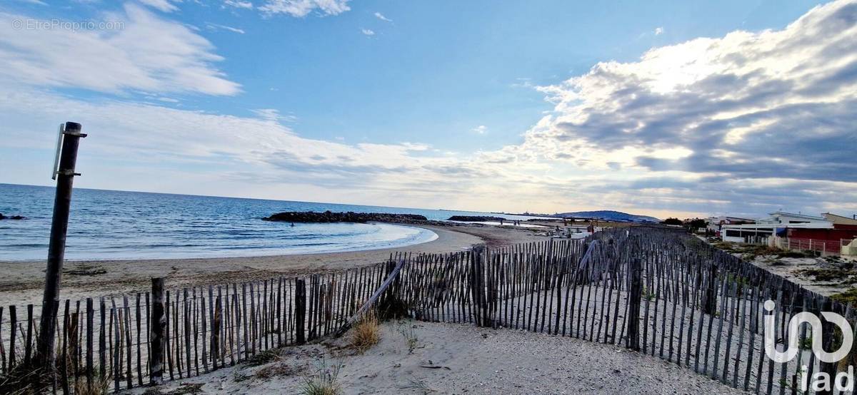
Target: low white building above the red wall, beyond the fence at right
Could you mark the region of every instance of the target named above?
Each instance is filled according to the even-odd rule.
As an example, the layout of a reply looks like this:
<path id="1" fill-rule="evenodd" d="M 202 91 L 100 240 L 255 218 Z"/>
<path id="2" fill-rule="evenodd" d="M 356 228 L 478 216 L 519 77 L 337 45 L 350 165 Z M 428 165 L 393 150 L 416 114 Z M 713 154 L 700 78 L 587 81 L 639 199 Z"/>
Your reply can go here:
<path id="1" fill-rule="evenodd" d="M 833 221 L 820 216 L 776 211 L 753 224 L 723 225 L 721 239 L 735 243 L 761 242 L 777 233 L 785 233 L 789 228 L 832 229 Z"/>

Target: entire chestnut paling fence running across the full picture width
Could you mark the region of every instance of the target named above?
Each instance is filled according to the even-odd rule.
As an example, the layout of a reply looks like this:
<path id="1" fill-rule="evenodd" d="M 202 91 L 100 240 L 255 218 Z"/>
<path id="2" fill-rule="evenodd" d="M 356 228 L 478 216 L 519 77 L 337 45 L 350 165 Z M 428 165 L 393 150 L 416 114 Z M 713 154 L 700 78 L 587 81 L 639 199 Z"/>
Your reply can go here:
<path id="1" fill-rule="evenodd" d="M 204 374 L 284 345 L 339 333 L 366 301 L 423 321 L 470 322 L 622 345 L 757 393 L 796 393 L 820 363 L 812 341 L 838 347 L 801 327 L 797 357 L 764 354 L 771 331 L 788 344 L 788 321 L 834 311 L 854 325 L 857 312 L 683 233 L 608 229 L 584 240 L 549 240 L 500 249 L 391 256 L 366 268 L 302 278 L 171 289 L 165 325 L 151 327 L 154 295 L 66 301 L 57 322 L 57 392 L 146 385 L 155 332 L 162 331 L 165 380 Z M 764 309 L 766 300 L 776 308 Z M 159 310 L 160 311 L 160 310 Z M 38 320 L 33 306 L 0 310 L 3 374 L 27 366 Z M 773 320 L 766 328 L 764 320 Z M 158 322 L 157 320 L 154 322 Z M 159 349 L 160 350 L 160 349 Z M 806 366 L 802 371 L 799 367 Z"/>

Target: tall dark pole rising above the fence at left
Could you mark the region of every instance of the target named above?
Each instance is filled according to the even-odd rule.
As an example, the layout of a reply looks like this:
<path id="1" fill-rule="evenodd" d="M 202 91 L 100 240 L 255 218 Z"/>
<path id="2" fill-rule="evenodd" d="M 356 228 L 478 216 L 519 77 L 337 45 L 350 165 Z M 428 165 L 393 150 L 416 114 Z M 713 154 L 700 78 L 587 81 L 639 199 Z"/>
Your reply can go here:
<path id="1" fill-rule="evenodd" d="M 36 345 L 38 363 L 42 368 L 54 366 L 54 337 L 59 306 L 60 280 L 63 276 L 63 256 L 65 254 L 65 235 L 69 229 L 69 206 L 71 205 L 71 186 L 75 179 L 77 145 L 81 137 L 81 124 L 66 122 L 63 131 L 63 150 L 57 168 L 57 195 L 54 197 L 53 221 L 51 222 L 51 241 L 48 245 L 48 265 L 45 270 L 45 295 L 42 298 L 42 316 L 39 321 L 39 340 Z"/>

